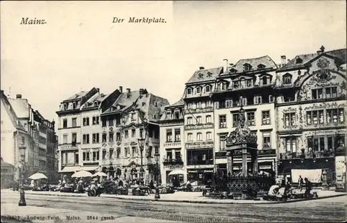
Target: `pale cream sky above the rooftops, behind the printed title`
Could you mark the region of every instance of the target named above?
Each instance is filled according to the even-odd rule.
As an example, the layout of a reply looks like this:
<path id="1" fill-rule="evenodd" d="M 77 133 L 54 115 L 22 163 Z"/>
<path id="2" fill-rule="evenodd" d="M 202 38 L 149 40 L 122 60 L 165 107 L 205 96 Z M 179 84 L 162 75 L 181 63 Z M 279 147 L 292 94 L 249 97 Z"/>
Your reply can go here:
<path id="1" fill-rule="evenodd" d="M 174 104 L 198 67 L 346 48 L 346 1 L 1 1 L 1 90 L 46 119 L 81 90 Z M 22 17 L 44 25 L 20 24 Z M 113 17 L 124 18 L 112 23 Z M 129 17 L 164 18 L 133 24 Z"/>

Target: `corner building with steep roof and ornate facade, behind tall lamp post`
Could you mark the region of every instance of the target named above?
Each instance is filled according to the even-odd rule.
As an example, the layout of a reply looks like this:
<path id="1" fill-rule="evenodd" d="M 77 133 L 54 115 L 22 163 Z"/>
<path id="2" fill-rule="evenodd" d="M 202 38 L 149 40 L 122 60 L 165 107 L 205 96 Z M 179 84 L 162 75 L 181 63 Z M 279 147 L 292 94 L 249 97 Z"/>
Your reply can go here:
<path id="1" fill-rule="evenodd" d="M 121 179 L 142 175 L 149 182 L 154 176 L 154 154 L 159 153 L 158 121 L 169 101 L 146 89 L 123 92 L 119 87 L 119 91 L 119 97 L 101 113 L 102 170 Z M 139 138 L 144 138 L 144 148 L 139 147 Z"/>

